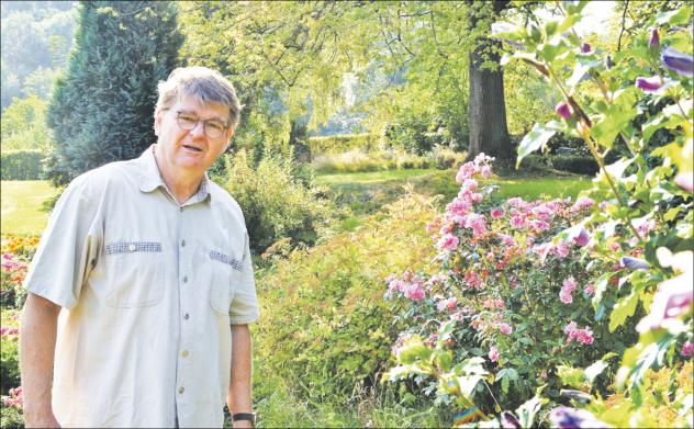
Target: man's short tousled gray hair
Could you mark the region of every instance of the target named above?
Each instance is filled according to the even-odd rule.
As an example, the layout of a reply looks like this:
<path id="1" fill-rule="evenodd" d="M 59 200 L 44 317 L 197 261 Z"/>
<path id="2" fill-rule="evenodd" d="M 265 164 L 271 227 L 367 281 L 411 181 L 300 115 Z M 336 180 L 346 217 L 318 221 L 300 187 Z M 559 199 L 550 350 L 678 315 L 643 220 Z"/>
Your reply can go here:
<path id="1" fill-rule="evenodd" d="M 243 105 L 238 102 L 234 86 L 221 72 L 206 67 L 179 67 L 166 81 L 157 86 L 159 99 L 157 112 L 174 105 L 181 97 L 192 97 L 201 104 L 219 103 L 228 108 L 228 123 L 236 129 Z"/>

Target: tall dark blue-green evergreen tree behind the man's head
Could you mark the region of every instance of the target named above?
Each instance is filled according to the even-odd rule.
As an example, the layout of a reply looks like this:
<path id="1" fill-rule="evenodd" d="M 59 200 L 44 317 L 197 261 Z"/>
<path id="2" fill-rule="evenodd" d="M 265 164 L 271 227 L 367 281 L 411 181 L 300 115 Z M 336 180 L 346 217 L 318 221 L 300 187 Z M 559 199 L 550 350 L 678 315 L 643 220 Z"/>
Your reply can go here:
<path id="1" fill-rule="evenodd" d="M 48 109 L 54 184 L 107 162 L 137 157 L 155 142 L 157 82 L 178 60 L 182 36 L 170 2 L 81 4 L 67 74 Z"/>

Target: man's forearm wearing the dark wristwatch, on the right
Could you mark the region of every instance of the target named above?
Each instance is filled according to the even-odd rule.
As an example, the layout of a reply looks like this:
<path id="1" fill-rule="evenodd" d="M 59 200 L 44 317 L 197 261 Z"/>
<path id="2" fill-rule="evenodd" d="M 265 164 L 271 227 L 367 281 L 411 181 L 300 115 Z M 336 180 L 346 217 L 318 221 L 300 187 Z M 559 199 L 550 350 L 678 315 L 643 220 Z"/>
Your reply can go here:
<path id="1" fill-rule="evenodd" d="M 232 380 L 226 398 L 232 414 L 250 413 L 251 399 L 251 342 L 248 325 L 232 325 Z M 235 428 L 250 428 L 249 421 L 237 421 Z"/>

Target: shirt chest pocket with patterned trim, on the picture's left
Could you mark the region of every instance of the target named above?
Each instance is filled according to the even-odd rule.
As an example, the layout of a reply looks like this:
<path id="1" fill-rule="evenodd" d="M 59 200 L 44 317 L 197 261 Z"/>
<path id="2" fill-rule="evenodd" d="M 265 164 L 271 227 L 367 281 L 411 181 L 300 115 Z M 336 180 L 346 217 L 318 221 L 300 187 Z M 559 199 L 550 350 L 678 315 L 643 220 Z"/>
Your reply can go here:
<path id="1" fill-rule="evenodd" d="M 108 305 L 146 307 L 164 297 L 164 256 L 156 241 L 119 241 L 105 247 Z"/>

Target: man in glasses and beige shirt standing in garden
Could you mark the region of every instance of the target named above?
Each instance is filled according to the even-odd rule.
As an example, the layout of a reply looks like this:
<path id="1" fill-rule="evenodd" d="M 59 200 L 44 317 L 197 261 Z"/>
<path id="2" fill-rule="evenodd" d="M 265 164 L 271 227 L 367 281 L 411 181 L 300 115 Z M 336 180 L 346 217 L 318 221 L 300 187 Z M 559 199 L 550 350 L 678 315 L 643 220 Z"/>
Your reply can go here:
<path id="1" fill-rule="evenodd" d="M 253 426 L 248 235 L 206 176 L 239 112 L 221 74 L 176 69 L 157 143 L 60 196 L 25 282 L 27 427 L 222 427 L 225 397 Z"/>

